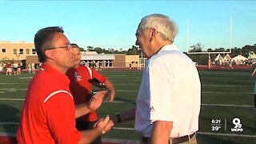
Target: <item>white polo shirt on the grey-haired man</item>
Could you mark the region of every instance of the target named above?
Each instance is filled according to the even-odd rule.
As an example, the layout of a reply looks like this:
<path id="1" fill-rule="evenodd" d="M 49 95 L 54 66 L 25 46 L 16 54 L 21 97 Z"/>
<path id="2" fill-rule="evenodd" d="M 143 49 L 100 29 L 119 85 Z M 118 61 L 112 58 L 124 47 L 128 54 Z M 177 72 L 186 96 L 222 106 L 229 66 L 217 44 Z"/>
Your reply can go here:
<path id="1" fill-rule="evenodd" d="M 173 122 L 170 137 L 198 130 L 201 83 L 194 62 L 176 46 L 163 46 L 146 62 L 138 91 L 135 130 L 150 137 L 155 121 Z"/>

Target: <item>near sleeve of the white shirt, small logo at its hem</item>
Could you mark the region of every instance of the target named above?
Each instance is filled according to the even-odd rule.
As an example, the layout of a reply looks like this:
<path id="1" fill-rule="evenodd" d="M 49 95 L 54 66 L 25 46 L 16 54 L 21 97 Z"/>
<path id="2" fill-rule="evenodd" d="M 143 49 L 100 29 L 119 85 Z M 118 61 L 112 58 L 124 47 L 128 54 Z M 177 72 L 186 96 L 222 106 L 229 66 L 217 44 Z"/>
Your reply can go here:
<path id="1" fill-rule="evenodd" d="M 174 122 L 173 76 L 168 66 L 151 63 L 150 78 L 150 120 Z"/>

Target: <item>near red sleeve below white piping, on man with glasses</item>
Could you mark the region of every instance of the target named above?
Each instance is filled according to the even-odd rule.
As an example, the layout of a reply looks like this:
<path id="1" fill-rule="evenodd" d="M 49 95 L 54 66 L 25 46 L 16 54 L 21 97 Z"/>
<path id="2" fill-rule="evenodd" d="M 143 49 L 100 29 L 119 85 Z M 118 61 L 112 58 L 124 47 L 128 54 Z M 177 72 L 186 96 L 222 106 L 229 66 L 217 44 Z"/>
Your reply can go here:
<path id="1" fill-rule="evenodd" d="M 46 118 L 56 143 L 78 143 L 82 133 L 75 127 L 74 101 L 69 94 L 59 93 L 47 102 Z"/>

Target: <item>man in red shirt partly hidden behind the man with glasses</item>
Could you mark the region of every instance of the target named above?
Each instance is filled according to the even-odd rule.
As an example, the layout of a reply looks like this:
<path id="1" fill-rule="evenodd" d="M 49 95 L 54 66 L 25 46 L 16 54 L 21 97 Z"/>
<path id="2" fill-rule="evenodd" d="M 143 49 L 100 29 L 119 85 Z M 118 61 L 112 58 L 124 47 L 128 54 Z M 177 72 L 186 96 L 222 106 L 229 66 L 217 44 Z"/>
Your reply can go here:
<path id="1" fill-rule="evenodd" d="M 92 85 L 89 80 L 97 78 L 100 82 L 104 83 L 110 94 L 109 102 L 113 102 L 115 91 L 114 86 L 108 78 L 99 74 L 89 66 L 80 65 L 81 54 L 77 44 L 71 44 L 74 49 L 74 68 L 67 71 L 66 75 L 70 78 L 70 91 L 74 97 L 74 103 L 76 105 L 88 102 L 90 94 L 92 93 Z M 78 130 L 90 130 L 94 127 L 94 123 L 97 122 L 98 115 L 96 110 L 92 110 L 89 114 L 83 115 L 76 119 L 76 127 Z M 101 144 L 102 140 L 99 136 L 91 142 L 92 144 Z"/>

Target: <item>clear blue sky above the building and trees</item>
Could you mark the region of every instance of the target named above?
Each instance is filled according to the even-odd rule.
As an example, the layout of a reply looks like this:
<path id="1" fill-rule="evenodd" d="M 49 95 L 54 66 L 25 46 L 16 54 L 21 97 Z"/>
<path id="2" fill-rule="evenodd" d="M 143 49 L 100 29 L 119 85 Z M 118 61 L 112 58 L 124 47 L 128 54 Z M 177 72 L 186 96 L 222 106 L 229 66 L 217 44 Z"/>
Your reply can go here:
<path id="1" fill-rule="evenodd" d="M 136 41 L 138 23 L 149 14 L 165 14 L 174 20 L 179 29 L 174 45 L 181 51 L 196 43 L 203 50 L 256 43 L 253 0 L 0 0 L 0 41 L 34 42 L 38 30 L 62 26 L 70 42 L 80 47 L 128 50 Z"/>

